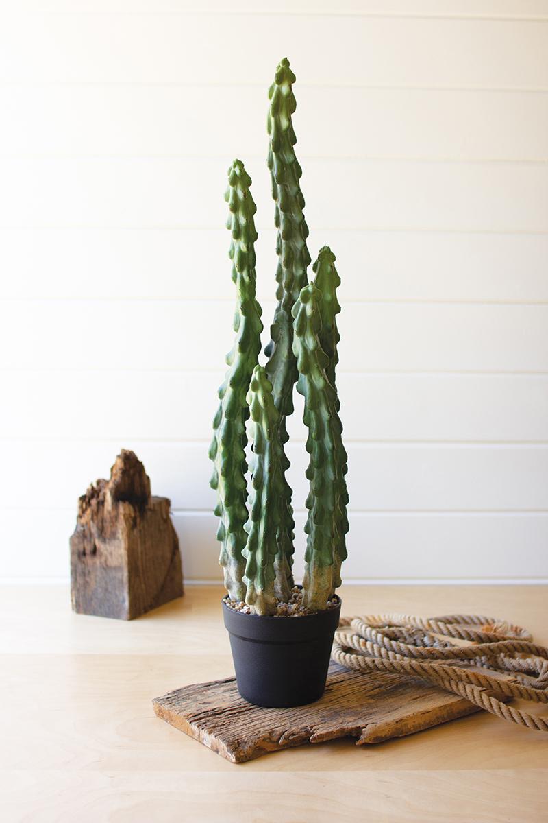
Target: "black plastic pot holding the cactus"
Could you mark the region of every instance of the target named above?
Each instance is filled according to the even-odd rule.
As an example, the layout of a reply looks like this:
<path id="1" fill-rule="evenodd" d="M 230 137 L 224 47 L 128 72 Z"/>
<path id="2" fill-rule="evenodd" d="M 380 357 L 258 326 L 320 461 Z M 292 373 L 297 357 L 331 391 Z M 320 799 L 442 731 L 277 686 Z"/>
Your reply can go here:
<path id="1" fill-rule="evenodd" d="M 237 688 L 257 706 L 302 706 L 324 694 L 338 607 L 303 617 L 260 617 L 223 602 Z"/>

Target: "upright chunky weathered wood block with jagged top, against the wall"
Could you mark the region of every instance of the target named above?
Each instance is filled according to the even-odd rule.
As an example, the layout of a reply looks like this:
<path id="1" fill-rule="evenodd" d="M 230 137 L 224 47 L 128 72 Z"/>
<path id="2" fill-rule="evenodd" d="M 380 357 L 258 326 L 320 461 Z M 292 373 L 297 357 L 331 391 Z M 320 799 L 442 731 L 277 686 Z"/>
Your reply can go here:
<path id="1" fill-rule="evenodd" d="M 182 595 L 181 555 L 167 497 L 150 495 L 145 467 L 122 449 L 110 480 L 78 504 L 71 537 L 72 608 L 131 620 Z"/>

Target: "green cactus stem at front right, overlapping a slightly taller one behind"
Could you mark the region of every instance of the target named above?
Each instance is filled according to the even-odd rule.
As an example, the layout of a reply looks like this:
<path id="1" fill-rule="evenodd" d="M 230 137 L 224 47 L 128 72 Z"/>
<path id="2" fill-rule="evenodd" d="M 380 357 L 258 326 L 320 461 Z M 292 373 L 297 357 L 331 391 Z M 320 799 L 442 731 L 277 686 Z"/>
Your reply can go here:
<path id="1" fill-rule="evenodd" d="M 302 581 L 303 605 L 310 611 L 325 609 L 340 585 L 340 565 L 346 556 L 348 531 L 347 454 L 337 395 L 326 374 L 329 357 L 320 345 L 321 300 L 320 290 L 311 283 L 302 289 L 292 311 L 293 351 L 299 372 L 297 392 L 305 398 L 303 419 L 308 427 L 306 451 L 310 454 L 306 469 L 310 492 L 306 498 L 307 538 Z"/>

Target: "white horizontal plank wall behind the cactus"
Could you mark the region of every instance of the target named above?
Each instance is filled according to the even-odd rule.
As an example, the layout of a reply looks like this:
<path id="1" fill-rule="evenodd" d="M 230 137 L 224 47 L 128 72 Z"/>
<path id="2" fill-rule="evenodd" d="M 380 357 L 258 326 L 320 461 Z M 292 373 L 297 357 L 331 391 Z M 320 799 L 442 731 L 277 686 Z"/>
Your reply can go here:
<path id="1" fill-rule="evenodd" d="M 219 579 L 223 190 L 241 157 L 268 328 L 286 55 L 311 253 L 330 244 L 343 281 L 346 579 L 548 578 L 541 0 L 2 4 L 3 577 L 67 576 L 76 499 L 125 447 L 172 500 L 187 579 Z"/>

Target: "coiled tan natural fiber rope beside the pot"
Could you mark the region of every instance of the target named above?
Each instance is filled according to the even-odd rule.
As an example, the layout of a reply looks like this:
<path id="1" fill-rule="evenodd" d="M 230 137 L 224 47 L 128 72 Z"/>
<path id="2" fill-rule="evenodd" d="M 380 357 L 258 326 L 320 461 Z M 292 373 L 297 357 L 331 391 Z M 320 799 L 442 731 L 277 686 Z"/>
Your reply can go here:
<path id="1" fill-rule="evenodd" d="M 496 717 L 548 732 L 548 717 L 504 702 L 548 703 L 548 649 L 519 626 L 481 615 L 343 617 L 332 657 L 358 672 L 421 677 Z"/>

